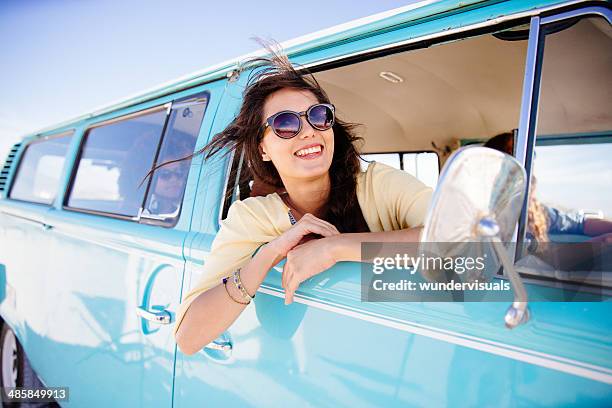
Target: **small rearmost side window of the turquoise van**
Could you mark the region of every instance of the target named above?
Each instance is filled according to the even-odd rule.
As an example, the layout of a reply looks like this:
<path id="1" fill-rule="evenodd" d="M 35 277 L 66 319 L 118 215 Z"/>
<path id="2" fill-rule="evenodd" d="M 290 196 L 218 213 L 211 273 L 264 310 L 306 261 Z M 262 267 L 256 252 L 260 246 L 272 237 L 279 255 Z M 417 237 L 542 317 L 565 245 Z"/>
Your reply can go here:
<path id="1" fill-rule="evenodd" d="M 9 198 L 53 203 L 71 139 L 72 132 L 30 143 L 19 163 Z"/>

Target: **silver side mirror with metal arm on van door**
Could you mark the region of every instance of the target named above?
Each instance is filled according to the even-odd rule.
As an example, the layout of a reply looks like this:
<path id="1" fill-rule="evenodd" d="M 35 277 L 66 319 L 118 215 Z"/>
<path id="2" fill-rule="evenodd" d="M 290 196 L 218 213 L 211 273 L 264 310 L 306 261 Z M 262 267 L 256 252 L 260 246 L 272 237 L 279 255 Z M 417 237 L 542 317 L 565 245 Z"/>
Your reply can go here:
<path id="1" fill-rule="evenodd" d="M 527 292 L 514 269 L 506 244 L 512 241 L 527 176 L 516 159 L 486 147 L 464 147 L 453 153 L 442 169 L 419 246 L 420 253 L 446 258 L 470 252 L 490 257 L 491 270 L 503 265 L 514 290 L 514 302 L 505 316 L 508 328 L 529 319 Z M 430 281 L 443 281 L 440 270 L 420 269 Z M 467 280 L 479 278 L 470 276 Z"/>

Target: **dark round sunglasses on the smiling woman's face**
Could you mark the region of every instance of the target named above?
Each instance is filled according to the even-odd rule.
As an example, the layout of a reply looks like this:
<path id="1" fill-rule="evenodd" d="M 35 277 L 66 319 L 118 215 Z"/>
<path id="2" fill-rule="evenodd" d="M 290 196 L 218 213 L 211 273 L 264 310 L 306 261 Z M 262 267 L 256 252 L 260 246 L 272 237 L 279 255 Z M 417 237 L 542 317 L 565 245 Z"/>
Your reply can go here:
<path id="1" fill-rule="evenodd" d="M 280 111 L 270 116 L 264 124 L 264 131 L 270 126 L 276 136 L 291 139 L 302 130 L 302 116 L 317 130 L 327 130 L 334 125 L 336 108 L 331 103 L 317 103 L 304 112 Z"/>

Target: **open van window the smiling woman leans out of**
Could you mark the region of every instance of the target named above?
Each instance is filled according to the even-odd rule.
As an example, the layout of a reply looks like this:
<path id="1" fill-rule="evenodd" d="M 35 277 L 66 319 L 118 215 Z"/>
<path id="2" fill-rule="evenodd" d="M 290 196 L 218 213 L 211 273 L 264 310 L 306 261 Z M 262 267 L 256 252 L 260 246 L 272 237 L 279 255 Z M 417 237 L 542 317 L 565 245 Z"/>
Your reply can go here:
<path id="1" fill-rule="evenodd" d="M 526 28 L 493 29 L 498 32 L 311 70 L 338 117 L 363 125 L 355 132 L 363 138 L 357 147 L 365 159 L 408 171 L 434 187 L 438 154 L 443 164 L 462 139 L 487 140 L 518 128 Z M 234 156 L 229 172 L 222 217 L 232 200 L 253 194 L 235 174 L 248 170 L 240 157 Z"/>

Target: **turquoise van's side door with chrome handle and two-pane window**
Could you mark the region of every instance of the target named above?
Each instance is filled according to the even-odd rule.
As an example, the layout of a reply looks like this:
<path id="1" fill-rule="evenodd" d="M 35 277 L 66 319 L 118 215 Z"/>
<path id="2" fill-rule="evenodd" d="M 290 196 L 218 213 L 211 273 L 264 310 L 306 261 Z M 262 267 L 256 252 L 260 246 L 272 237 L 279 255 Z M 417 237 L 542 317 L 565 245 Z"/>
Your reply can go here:
<path id="1" fill-rule="evenodd" d="M 197 151 L 224 81 L 86 124 L 66 193 L 46 217 L 50 256 L 35 279 L 44 327 L 26 326 L 47 386 L 78 406 L 172 405 L 183 243 L 191 225 Z M 144 182 L 141 183 L 141 181 Z"/>

